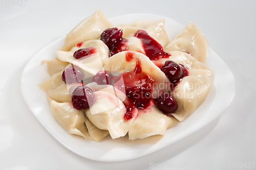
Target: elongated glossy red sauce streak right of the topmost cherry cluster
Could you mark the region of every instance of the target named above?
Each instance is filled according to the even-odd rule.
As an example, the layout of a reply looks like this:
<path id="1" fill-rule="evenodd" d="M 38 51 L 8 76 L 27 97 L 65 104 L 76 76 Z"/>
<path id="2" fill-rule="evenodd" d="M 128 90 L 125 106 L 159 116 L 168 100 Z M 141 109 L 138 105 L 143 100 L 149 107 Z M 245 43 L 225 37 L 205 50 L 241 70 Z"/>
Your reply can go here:
<path id="1" fill-rule="evenodd" d="M 139 38 L 146 53 L 146 56 L 151 60 L 159 60 L 160 58 L 167 58 L 170 55 L 163 51 L 162 45 L 147 34 L 145 30 L 138 30 L 134 37 Z"/>

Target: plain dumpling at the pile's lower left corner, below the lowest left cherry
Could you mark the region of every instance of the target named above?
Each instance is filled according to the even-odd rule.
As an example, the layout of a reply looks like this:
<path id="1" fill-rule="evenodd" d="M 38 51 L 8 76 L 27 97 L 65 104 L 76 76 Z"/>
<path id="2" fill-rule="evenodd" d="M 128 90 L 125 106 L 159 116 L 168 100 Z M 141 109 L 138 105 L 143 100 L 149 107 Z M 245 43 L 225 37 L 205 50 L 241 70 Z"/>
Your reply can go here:
<path id="1" fill-rule="evenodd" d="M 84 137 L 86 140 L 92 140 L 81 110 L 73 108 L 72 103 L 58 103 L 51 101 L 51 111 L 55 120 L 69 134 L 75 134 Z"/>

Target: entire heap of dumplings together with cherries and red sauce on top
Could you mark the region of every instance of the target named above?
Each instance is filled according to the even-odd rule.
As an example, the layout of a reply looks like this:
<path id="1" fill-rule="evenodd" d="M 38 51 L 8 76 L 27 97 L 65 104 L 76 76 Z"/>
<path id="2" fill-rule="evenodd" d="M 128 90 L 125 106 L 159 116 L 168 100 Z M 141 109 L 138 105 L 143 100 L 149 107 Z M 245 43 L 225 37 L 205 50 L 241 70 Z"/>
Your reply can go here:
<path id="1" fill-rule="evenodd" d="M 52 115 L 69 134 L 143 139 L 164 135 L 206 99 L 208 44 L 190 22 L 169 40 L 164 19 L 113 26 L 100 10 L 66 37 L 47 64 Z"/>

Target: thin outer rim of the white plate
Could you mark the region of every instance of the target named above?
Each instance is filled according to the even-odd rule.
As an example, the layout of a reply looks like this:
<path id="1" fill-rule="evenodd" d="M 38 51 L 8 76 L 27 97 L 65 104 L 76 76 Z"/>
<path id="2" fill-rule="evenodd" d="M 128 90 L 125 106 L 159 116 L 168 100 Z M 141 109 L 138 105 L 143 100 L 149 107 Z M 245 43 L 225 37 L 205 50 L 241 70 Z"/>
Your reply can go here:
<path id="1" fill-rule="evenodd" d="M 170 19 L 170 20 L 172 20 L 172 21 L 178 23 L 180 26 L 184 27 L 181 23 L 179 23 L 178 21 L 176 21 L 176 20 L 174 20 L 174 19 L 172 19 L 172 18 L 168 18 L 168 17 L 165 17 L 165 16 L 156 15 L 156 14 L 150 14 L 150 13 L 126 14 L 126 15 L 121 15 L 121 16 L 112 17 L 112 18 L 110 18 L 109 20 L 110 20 L 110 22 L 111 22 L 111 20 L 115 20 L 115 19 L 118 19 L 118 18 L 120 18 L 120 17 L 141 16 L 141 15 L 144 15 L 144 16 L 145 16 L 145 15 L 148 15 L 148 16 L 155 16 L 155 17 L 159 17 L 159 18 Z M 23 69 L 23 71 L 22 71 L 22 75 L 21 75 L 21 79 L 20 79 L 20 82 L 21 82 L 21 83 L 20 83 L 20 88 L 21 88 L 21 90 L 22 90 L 23 98 L 24 98 L 25 102 L 27 103 L 27 105 L 28 105 L 30 111 L 33 113 L 33 115 L 37 118 L 37 120 L 40 122 L 40 124 L 41 124 L 42 126 L 44 126 L 44 123 L 42 123 L 42 122 L 41 122 L 42 120 L 40 119 L 40 117 L 38 117 L 37 114 L 35 114 L 35 113 L 31 110 L 31 104 L 28 104 L 28 100 L 27 100 L 26 94 L 25 94 L 25 91 L 26 91 L 26 90 L 24 89 L 24 88 L 26 88 L 26 87 L 24 86 L 24 75 L 26 75 L 27 69 L 30 68 L 30 66 L 31 66 L 30 64 L 33 63 L 33 61 L 35 60 L 36 56 L 40 55 L 40 53 L 44 52 L 45 50 L 47 50 L 47 49 L 48 49 L 49 47 L 51 47 L 52 45 L 54 46 L 54 44 L 59 43 L 59 41 L 65 39 L 65 37 L 66 37 L 66 36 L 61 37 L 61 38 L 59 38 L 59 39 L 53 41 L 53 42 L 50 43 L 49 45 L 45 46 L 44 48 L 42 48 L 36 55 L 34 55 L 34 56 L 29 60 L 29 62 L 26 64 L 26 66 L 24 67 L 24 69 Z M 57 51 L 57 50 L 55 50 L 55 51 Z M 171 145 L 171 144 L 173 144 L 173 143 L 178 142 L 179 140 L 181 140 L 181 139 L 183 139 L 183 138 L 185 138 L 185 137 L 187 137 L 187 136 L 189 136 L 189 135 L 195 133 L 196 131 L 198 131 L 198 130 L 204 128 L 206 125 L 208 125 L 209 123 L 211 123 L 212 121 L 214 121 L 217 117 L 219 117 L 219 116 L 226 110 L 226 108 L 229 106 L 229 104 L 231 103 L 231 101 L 232 101 L 232 99 L 233 99 L 233 97 L 234 97 L 236 85 L 235 85 L 235 80 L 234 80 L 234 77 L 233 77 L 233 74 L 232 74 L 231 70 L 228 68 L 228 66 L 225 64 L 225 62 L 221 59 L 221 57 L 220 57 L 214 50 L 212 50 L 212 48 L 209 46 L 209 52 L 210 52 L 210 51 L 213 52 L 213 53 L 215 53 L 215 55 L 217 55 L 217 56 L 219 57 L 219 59 L 222 61 L 222 64 L 224 64 L 224 65 L 226 66 L 225 68 L 226 68 L 226 70 L 228 71 L 229 76 L 231 76 L 230 79 L 231 79 L 231 81 L 233 81 L 233 87 L 229 88 L 229 91 L 231 91 L 232 96 L 229 96 L 228 103 L 226 104 L 225 108 L 222 108 L 221 113 L 219 113 L 217 116 L 215 116 L 215 118 L 212 118 L 212 119 L 208 120 L 208 122 L 205 122 L 204 124 L 201 124 L 200 126 L 197 125 L 197 124 L 198 124 L 198 122 L 197 122 L 196 124 L 194 124 L 193 126 L 191 126 L 191 127 L 194 127 L 194 128 L 191 129 L 191 127 L 190 127 L 190 130 L 187 129 L 186 131 L 184 131 L 184 132 L 186 132 L 186 133 L 182 132 L 181 135 L 179 135 L 178 137 L 175 138 L 176 140 L 173 140 L 172 143 L 170 143 L 170 144 L 168 144 L 168 145 Z M 39 65 L 40 65 L 40 64 L 39 64 Z M 212 83 L 212 84 L 213 84 L 213 83 Z M 49 107 L 50 107 L 50 106 L 49 106 Z M 44 128 L 46 128 L 46 130 L 47 130 L 57 141 L 59 141 L 62 145 L 64 145 L 67 149 L 71 150 L 72 152 L 74 152 L 74 153 L 76 153 L 76 154 L 78 154 L 78 155 L 80 155 L 80 156 L 82 156 L 82 157 L 85 157 L 85 158 L 88 158 L 88 159 L 92 159 L 92 160 L 96 160 L 96 161 L 117 162 L 117 161 L 131 160 L 131 159 L 139 158 L 139 157 L 142 157 L 142 156 L 145 156 L 145 155 L 148 155 L 148 154 L 152 154 L 152 153 L 154 153 L 154 152 L 156 152 L 156 151 L 158 151 L 158 150 L 161 150 L 161 149 L 163 149 L 163 148 L 165 148 L 165 147 L 168 147 L 168 145 L 164 145 L 164 146 L 162 146 L 162 147 L 158 147 L 158 148 L 156 148 L 156 149 L 154 149 L 154 150 L 151 150 L 150 152 L 145 152 L 145 153 L 143 153 L 143 154 L 140 154 L 140 155 L 137 155 L 137 156 L 133 156 L 133 157 L 131 157 L 131 158 L 121 158 L 121 159 L 109 159 L 109 160 L 107 160 L 107 159 L 102 159 L 101 157 L 94 158 L 94 157 L 90 157 L 90 156 L 84 156 L 83 154 L 81 154 L 81 153 L 79 153 L 79 152 L 76 152 L 74 149 L 72 149 L 72 147 L 70 147 L 69 145 L 63 143 L 63 141 L 61 141 L 58 136 L 55 136 L 54 134 L 52 134 L 51 130 L 48 129 L 49 127 L 44 126 Z M 67 134 L 68 134 L 68 133 L 67 133 Z M 68 134 L 68 135 L 70 135 L 70 134 Z M 86 140 L 85 140 L 85 141 L 86 141 Z"/>

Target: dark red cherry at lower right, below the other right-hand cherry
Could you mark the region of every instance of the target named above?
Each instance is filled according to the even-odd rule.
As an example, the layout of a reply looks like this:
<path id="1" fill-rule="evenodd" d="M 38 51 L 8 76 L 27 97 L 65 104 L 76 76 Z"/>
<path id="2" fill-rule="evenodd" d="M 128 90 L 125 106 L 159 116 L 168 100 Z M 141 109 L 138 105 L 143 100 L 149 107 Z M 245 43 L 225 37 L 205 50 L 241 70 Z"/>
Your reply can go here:
<path id="1" fill-rule="evenodd" d="M 164 93 L 155 99 L 157 108 L 164 114 L 174 113 L 178 109 L 178 103 L 172 94 Z"/>

